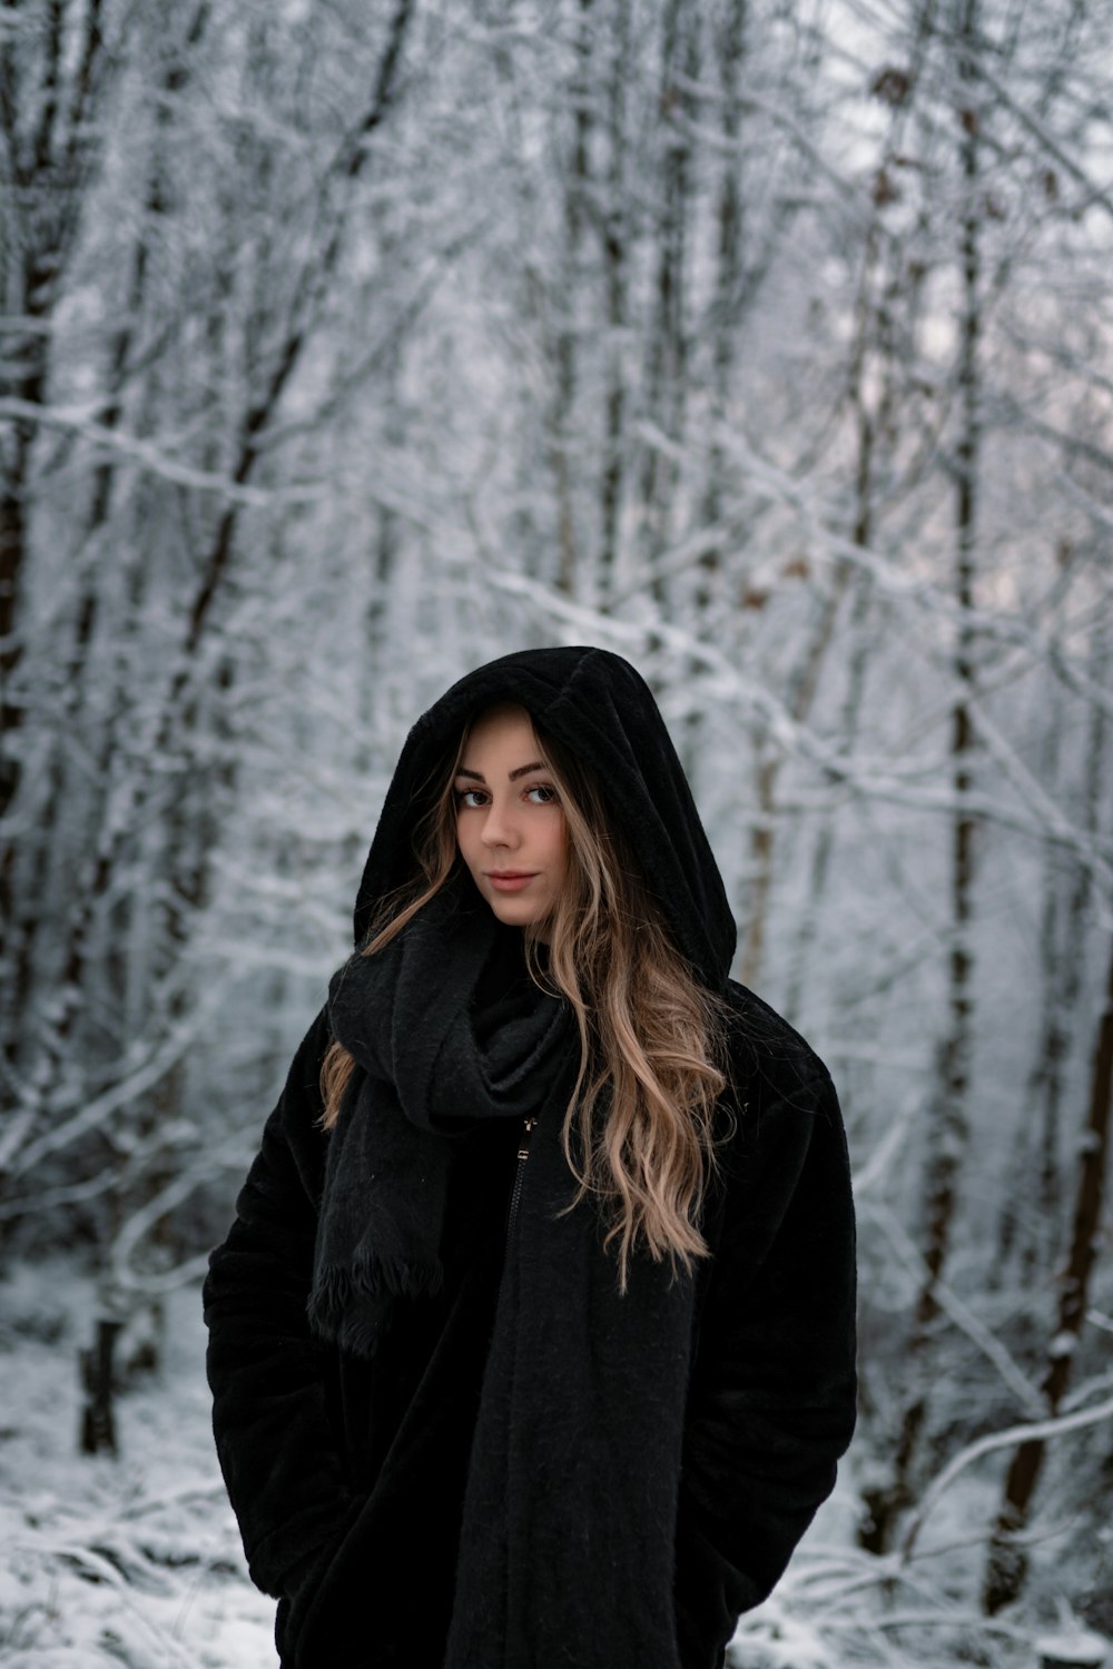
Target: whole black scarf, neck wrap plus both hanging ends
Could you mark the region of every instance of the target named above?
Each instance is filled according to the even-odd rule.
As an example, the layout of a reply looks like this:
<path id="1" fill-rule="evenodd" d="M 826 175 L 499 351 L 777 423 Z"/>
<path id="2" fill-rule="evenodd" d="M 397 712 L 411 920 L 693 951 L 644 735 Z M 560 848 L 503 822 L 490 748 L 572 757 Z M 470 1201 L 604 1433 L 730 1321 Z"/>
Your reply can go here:
<path id="1" fill-rule="evenodd" d="M 514 958 L 517 965 L 514 968 Z M 536 1115 L 462 1502 L 444 1669 L 679 1669 L 674 1534 L 692 1280 L 614 1253 L 561 1148 L 577 1038 L 521 933 L 446 888 L 332 983 L 357 1066 L 320 1202 L 315 1329 L 370 1355 L 437 1288 L 454 1135 Z"/>

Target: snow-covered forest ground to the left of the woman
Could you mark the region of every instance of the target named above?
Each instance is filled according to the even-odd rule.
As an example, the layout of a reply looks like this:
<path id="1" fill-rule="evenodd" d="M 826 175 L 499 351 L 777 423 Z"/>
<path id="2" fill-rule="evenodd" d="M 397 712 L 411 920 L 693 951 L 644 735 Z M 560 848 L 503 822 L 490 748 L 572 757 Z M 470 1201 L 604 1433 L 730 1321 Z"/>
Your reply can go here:
<path id="1" fill-rule="evenodd" d="M 274 1602 L 247 1581 L 212 1447 L 195 1288 L 165 1370 L 120 1404 L 120 1457 L 77 1454 L 90 1288 L 65 1263 L 0 1297 L 0 1662 L 12 1669 L 264 1669 Z"/>

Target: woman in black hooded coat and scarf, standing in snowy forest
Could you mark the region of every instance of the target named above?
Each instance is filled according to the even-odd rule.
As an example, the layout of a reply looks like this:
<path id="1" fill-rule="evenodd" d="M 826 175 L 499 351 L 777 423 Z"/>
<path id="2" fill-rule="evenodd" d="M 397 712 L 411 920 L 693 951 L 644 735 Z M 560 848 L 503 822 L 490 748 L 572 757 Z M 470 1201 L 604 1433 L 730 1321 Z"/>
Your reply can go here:
<path id="1" fill-rule="evenodd" d="M 282 1664 L 723 1664 L 849 1442 L 853 1212 L 634 668 L 454 684 L 355 943 L 205 1283 Z"/>

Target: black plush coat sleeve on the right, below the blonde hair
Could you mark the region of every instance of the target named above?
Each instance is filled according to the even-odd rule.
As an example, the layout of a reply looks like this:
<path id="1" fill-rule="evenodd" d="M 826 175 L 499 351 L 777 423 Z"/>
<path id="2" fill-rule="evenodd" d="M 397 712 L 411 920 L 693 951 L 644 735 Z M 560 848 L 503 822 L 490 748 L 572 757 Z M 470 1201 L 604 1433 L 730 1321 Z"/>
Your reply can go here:
<path id="1" fill-rule="evenodd" d="M 818 1060 L 816 1066 L 819 1066 Z M 677 1517 L 686 1669 L 719 1664 L 834 1485 L 854 1429 L 854 1213 L 834 1085 L 751 1097 L 726 1167 Z"/>

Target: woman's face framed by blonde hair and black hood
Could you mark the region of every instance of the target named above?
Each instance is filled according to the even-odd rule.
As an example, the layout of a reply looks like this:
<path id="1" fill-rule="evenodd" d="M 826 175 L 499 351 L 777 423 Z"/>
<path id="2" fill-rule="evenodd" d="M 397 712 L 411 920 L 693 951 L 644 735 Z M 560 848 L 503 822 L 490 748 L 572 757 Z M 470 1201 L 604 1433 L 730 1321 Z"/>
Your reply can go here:
<path id="1" fill-rule="evenodd" d="M 507 926 L 541 921 L 564 885 L 567 826 L 522 708 L 476 721 L 452 786 L 472 881 Z"/>

